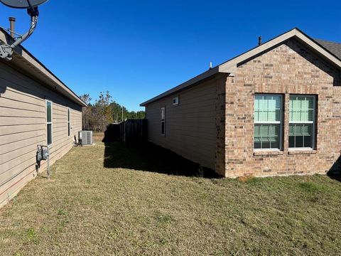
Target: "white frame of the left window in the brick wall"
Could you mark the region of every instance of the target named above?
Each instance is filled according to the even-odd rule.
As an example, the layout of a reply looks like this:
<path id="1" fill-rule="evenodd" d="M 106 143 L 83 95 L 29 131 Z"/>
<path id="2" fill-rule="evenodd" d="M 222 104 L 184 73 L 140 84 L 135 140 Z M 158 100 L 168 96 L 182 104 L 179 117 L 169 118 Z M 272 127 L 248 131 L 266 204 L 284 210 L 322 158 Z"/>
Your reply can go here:
<path id="1" fill-rule="evenodd" d="M 267 149 L 255 149 L 254 151 L 283 151 L 283 133 L 284 133 L 284 129 L 283 129 L 283 120 L 284 120 L 284 99 L 285 99 L 285 95 L 280 94 L 280 93 L 255 93 L 254 94 L 254 103 L 256 102 L 256 96 L 279 96 L 280 98 L 280 121 L 274 121 L 274 122 L 259 122 L 256 121 L 254 118 L 254 129 L 256 127 L 256 124 L 279 124 L 279 136 L 278 136 L 278 149 L 274 149 L 274 148 L 267 148 Z M 255 113 L 256 107 L 254 105 L 254 113 Z M 255 139 L 255 137 L 254 137 Z M 253 140 L 253 147 L 254 147 L 254 140 Z"/>

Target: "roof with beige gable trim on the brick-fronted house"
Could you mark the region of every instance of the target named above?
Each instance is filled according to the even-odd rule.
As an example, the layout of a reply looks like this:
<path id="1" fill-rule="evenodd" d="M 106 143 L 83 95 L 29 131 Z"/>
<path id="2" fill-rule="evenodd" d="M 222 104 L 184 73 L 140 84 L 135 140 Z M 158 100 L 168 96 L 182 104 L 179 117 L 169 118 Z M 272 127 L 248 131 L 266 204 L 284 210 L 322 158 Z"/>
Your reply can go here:
<path id="1" fill-rule="evenodd" d="M 325 58 L 326 60 L 329 60 L 330 63 L 335 65 L 335 67 L 341 69 L 341 56 L 339 55 L 340 53 L 339 47 L 341 46 L 341 44 L 332 43 L 328 41 L 323 41 L 323 42 L 315 41 L 313 38 L 310 38 L 305 33 L 303 33 L 303 31 L 301 31 L 300 29 L 293 28 L 290 31 L 287 31 L 286 33 L 283 33 L 277 36 L 276 38 L 273 38 L 267 41 L 266 43 L 261 44 L 260 46 L 256 46 L 255 48 L 252 48 L 251 50 L 248 50 L 247 52 L 242 53 L 241 55 L 238 55 L 237 57 L 234 57 L 220 65 L 217 65 L 215 68 L 212 68 L 200 75 L 197 75 L 195 78 L 192 78 L 188 80 L 187 82 L 184 82 L 178 85 L 177 87 L 174 87 L 171 90 L 161 93 L 161 95 L 153 97 L 151 100 L 147 100 L 146 102 L 141 103 L 140 106 L 145 107 L 146 105 L 152 102 L 155 102 L 156 100 L 160 100 L 163 97 L 172 95 L 175 92 L 179 92 L 181 90 L 185 90 L 191 86 L 195 86 L 197 85 L 198 82 L 208 79 L 212 77 L 213 75 L 217 75 L 219 73 L 225 73 L 225 74 L 235 73 L 235 71 L 237 70 L 237 66 L 240 65 L 241 63 L 244 63 L 245 61 L 251 58 L 254 58 L 254 56 L 256 55 L 265 53 L 266 50 L 276 47 L 290 38 L 295 38 L 301 43 L 304 43 L 306 46 L 309 46 L 311 49 L 315 51 L 315 53 Z"/>

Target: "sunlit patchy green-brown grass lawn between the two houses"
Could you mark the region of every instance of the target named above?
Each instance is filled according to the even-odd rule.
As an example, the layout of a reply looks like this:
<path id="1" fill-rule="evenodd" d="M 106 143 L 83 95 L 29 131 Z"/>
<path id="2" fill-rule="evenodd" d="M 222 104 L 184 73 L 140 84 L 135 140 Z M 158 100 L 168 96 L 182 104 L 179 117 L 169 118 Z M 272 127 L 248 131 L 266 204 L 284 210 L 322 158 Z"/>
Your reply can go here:
<path id="1" fill-rule="evenodd" d="M 72 149 L 0 210 L 0 255 L 341 255 L 339 181 L 198 178 L 155 149 Z"/>

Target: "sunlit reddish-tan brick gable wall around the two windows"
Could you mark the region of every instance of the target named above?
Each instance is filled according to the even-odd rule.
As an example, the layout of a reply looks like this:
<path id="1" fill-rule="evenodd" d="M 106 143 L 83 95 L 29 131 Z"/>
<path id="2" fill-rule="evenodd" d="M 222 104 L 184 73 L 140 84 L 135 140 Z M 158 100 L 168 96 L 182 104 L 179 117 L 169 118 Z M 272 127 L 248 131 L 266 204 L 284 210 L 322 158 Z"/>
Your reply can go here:
<path id="1" fill-rule="evenodd" d="M 340 156 L 340 70 L 298 41 L 290 40 L 239 65 L 226 80 L 225 176 L 325 174 Z M 254 151 L 254 94 L 284 95 L 283 151 Z M 318 95 L 314 151 L 288 150 L 290 94 Z M 221 114 L 223 111 L 217 112 Z M 217 144 L 222 144 L 217 137 Z M 222 170 L 217 169 L 218 173 Z"/>

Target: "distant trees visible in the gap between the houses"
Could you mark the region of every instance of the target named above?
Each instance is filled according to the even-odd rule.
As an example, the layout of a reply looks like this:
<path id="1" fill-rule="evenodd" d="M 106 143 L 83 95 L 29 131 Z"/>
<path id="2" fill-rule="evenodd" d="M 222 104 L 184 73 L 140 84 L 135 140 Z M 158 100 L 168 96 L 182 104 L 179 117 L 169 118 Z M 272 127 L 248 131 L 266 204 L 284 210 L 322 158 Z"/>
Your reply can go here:
<path id="1" fill-rule="evenodd" d="M 108 124 L 123 122 L 126 119 L 144 119 L 144 111 L 129 111 L 126 107 L 112 100 L 109 91 L 100 92 L 97 100 L 92 103 L 89 94 L 80 95 L 87 103 L 82 108 L 83 130 L 104 132 Z"/>

